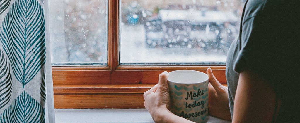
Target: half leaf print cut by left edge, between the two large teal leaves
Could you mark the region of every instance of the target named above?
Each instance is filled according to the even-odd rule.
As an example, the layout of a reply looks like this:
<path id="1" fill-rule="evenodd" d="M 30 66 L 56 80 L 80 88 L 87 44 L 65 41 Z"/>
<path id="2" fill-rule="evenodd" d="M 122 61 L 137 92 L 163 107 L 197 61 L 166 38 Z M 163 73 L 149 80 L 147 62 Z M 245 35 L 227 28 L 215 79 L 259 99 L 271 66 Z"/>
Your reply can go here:
<path id="1" fill-rule="evenodd" d="M 11 74 L 10 66 L 4 52 L 0 50 L 0 109 L 10 100 L 11 95 Z"/>

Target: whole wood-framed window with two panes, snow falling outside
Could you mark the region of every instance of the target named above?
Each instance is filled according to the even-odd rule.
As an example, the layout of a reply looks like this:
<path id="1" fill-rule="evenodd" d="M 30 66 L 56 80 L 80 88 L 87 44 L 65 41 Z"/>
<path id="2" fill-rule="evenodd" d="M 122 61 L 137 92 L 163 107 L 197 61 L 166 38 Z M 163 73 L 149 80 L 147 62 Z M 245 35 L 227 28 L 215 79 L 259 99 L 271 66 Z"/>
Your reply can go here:
<path id="1" fill-rule="evenodd" d="M 163 71 L 211 67 L 226 84 L 239 0 L 48 2 L 55 108 L 144 108 Z"/>

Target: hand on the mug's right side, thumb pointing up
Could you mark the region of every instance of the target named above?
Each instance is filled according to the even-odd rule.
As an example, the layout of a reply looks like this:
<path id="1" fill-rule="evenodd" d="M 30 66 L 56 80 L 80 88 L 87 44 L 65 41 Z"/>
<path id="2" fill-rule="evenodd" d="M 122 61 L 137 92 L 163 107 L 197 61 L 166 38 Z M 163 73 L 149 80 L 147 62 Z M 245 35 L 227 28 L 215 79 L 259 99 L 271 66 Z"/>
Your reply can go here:
<path id="1" fill-rule="evenodd" d="M 228 88 L 214 77 L 211 68 L 206 70 L 209 78 L 208 84 L 208 113 L 221 119 L 231 120 Z"/>

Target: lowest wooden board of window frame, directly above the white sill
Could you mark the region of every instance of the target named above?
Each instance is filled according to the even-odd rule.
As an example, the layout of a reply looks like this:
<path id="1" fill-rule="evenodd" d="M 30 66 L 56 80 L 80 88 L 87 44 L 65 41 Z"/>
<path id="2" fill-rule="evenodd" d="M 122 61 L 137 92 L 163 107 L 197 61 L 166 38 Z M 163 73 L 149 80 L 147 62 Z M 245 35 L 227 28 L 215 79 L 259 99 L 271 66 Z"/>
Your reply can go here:
<path id="1" fill-rule="evenodd" d="M 143 94 L 55 94 L 55 108 L 145 108 Z"/>

